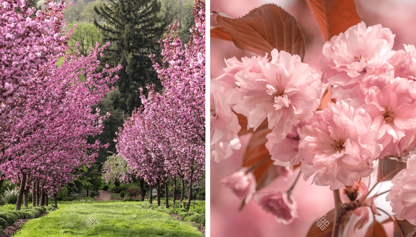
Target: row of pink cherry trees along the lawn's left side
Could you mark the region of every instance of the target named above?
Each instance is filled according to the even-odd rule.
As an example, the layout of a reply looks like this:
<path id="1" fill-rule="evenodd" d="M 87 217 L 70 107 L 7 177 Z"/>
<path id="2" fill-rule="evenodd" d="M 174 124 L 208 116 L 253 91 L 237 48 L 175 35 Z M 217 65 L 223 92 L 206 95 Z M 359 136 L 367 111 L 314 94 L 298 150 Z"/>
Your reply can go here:
<path id="1" fill-rule="evenodd" d="M 109 85 L 118 79 L 113 74 L 121 68 L 106 65 L 96 72 L 98 56 L 109 42 L 101 47 L 97 43 L 87 56 L 76 49 L 65 54 L 64 42 L 71 35 L 61 32 L 66 25 L 62 20 L 65 2 L 46 4 L 45 10 L 31 16 L 33 10 L 27 9 L 25 1 L 1 1 L 0 10 L 6 12 L 0 21 L 3 30 L 18 31 L 15 39 L 4 38 L 7 47 L 1 47 L 1 63 L 6 70 L 0 76 L 0 170 L 2 178 L 20 184 L 16 210 L 24 195 L 27 200 L 31 182 L 36 183 L 32 191 L 40 186 L 43 195 L 56 194 L 76 178 L 71 173 L 78 166 L 94 162 L 95 150 L 108 146 L 87 142 L 87 137 L 102 132 L 103 120 L 109 116 L 91 113 L 91 106 L 109 92 Z"/>

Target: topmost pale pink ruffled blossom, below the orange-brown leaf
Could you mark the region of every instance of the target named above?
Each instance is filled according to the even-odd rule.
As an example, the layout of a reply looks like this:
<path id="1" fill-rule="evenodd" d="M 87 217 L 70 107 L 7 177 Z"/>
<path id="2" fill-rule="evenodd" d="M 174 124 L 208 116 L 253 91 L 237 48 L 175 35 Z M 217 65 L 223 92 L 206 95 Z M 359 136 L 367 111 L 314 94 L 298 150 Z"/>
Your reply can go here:
<path id="1" fill-rule="evenodd" d="M 363 21 L 332 37 L 322 49 L 323 82 L 351 88 L 369 75 L 391 70 L 387 60 L 394 53 L 394 37 L 388 28 L 366 27 Z"/>

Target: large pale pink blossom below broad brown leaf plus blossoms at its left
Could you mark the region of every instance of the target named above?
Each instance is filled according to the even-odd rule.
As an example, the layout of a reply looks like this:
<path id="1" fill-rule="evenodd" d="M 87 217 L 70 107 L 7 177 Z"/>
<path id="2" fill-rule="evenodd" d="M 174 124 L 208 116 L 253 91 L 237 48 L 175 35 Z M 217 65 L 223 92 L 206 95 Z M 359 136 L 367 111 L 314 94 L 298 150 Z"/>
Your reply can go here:
<path id="1" fill-rule="evenodd" d="M 247 117 L 247 129 L 254 130 L 267 118 L 270 136 L 282 140 L 318 108 L 319 75 L 298 55 L 273 50 L 271 57 L 231 58 L 225 73 L 211 80 L 210 144 L 216 161 L 239 149 L 236 114 Z"/>

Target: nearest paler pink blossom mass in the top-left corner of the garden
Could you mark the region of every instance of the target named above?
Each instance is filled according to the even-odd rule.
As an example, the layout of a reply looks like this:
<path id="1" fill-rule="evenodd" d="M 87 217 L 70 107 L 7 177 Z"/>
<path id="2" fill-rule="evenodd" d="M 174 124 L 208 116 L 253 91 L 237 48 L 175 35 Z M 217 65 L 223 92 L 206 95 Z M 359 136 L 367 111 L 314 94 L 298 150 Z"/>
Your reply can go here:
<path id="1" fill-rule="evenodd" d="M 37 65 L 61 52 L 66 38 L 60 34 L 65 3 L 49 0 L 36 12 L 25 0 L 0 0 L 0 103 L 23 92 Z M 20 11 L 16 8 L 20 7 Z M 0 110 L 0 119 L 5 111 Z"/>

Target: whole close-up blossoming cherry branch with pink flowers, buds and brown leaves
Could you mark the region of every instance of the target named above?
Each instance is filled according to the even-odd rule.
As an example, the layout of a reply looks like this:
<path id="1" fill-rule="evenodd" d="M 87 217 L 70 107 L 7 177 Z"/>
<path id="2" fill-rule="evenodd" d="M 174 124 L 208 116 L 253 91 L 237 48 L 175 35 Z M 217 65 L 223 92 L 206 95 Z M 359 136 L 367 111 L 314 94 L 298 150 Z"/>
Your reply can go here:
<path id="1" fill-rule="evenodd" d="M 395 237 L 415 236 L 415 46 L 393 50 L 393 32 L 367 26 L 353 0 L 307 3 L 326 40 L 321 71 L 303 62 L 303 35 L 279 6 L 240 18 L 212 13 L 211 37 L 259 55 L 226 59 L 211 79 L 211 158 L 229 158 L 251 134 L 242 167 L 221 183 L 240 209 L 255 201 L 285 225 L 302 212 L 292 195 L 300 176 L 327 186 L 335 203 L 322 215 L 329 227 L 311 223 L 307 237 L 387 236 L 389 222 Z M 289 171 L 297 178 L 288 190 L 268 188 Z M 391 189 L 375 189 L 388 180 Z M 393 215 L 374 202 L 385 193 Z M 387 219 L 376 220 L 381 213 Z"/>

